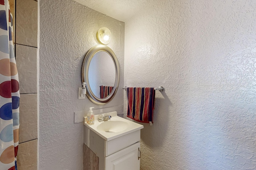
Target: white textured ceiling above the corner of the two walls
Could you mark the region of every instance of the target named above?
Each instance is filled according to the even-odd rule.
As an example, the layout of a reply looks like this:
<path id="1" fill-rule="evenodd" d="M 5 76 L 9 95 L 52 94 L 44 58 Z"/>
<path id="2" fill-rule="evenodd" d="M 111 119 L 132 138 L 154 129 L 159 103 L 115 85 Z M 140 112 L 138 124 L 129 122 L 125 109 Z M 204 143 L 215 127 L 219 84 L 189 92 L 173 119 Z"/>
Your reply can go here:
<path id="1" fill-rule="evenodd" d="M 119 21 L 128 21 L 146 9 L 154 0 L 74 0 Z"/>

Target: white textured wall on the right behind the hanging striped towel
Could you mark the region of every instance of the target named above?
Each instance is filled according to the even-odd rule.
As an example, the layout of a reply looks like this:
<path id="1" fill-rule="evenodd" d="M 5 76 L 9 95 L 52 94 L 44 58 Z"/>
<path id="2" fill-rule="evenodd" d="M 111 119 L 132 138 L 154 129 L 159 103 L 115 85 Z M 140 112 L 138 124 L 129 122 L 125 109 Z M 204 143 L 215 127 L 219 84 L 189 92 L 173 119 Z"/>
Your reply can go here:
<path id="1" fill-rule="evenodd" d="M 125 85 L 165 88 L 141 170 L 256 169 L 255 0 L 156 1 L 125 23 Z"/>

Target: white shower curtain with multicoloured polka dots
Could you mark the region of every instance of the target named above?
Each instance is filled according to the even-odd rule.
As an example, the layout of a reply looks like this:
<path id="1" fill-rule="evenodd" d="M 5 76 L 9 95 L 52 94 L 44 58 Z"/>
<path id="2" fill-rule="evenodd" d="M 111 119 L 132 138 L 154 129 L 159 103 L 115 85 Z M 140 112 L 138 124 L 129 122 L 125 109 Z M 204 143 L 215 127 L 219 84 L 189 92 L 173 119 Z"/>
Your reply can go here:
<path id="1" fill-rule="evenodd" d="M 8 0 L 0 0 L 0 170 L 17 170 L 20 91 L 12 35 Z"/>

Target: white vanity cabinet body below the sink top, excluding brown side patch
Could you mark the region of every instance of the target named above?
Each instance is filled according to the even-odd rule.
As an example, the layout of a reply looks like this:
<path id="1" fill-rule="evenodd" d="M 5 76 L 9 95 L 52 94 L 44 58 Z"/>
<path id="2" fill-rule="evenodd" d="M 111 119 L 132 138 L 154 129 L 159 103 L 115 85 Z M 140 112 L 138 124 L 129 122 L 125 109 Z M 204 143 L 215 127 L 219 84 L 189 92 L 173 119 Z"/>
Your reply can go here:
<path id="1" fill-rule="evenodd" d="M 84 126 L 84 145 L 98 157 L 99 170 L 140 170 L 140 130 L 106 141 Z"/>

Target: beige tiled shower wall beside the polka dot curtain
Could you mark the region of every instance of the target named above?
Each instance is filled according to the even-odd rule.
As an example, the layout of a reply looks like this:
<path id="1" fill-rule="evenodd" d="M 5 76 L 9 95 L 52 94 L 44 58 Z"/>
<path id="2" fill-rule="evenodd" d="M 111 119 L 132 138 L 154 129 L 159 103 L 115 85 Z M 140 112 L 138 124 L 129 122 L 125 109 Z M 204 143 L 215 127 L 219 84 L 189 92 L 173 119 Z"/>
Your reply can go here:
<path id="1" fill-rule="evenodd" d="M 37 8 L 35 0 L 10 0 L 20 82 L 18 170 L 36 170 L 38 158 Z"/>

